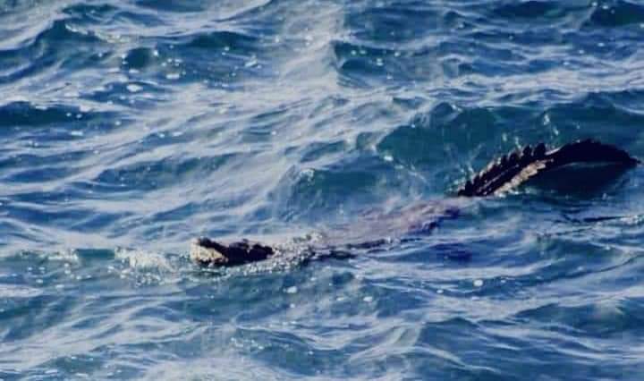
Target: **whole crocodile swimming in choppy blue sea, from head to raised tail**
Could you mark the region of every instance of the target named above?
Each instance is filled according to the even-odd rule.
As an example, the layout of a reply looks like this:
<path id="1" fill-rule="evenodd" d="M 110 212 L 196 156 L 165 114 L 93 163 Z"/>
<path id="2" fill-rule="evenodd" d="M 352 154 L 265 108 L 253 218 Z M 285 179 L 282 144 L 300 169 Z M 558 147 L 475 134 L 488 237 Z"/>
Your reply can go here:
<path id="1" fill-rule="evenodd" d="M 516 189 L 522 183 L 537 177 L 538 174 L 576 163 L 609 163 L 627 168 L 640 164 L 640 161 L 620 148 L 596 140 L 575 141 L 549 151 L 546 145 L 541 143 L 535 148 L 527 146 L 492 161 L 479 174 L 465 182 L 456 191 L 456 195 L 461 198 L 500 195 Z M 458 206 L 446 204 L 448 203 L 440 207 L 432 205 L 411 207 L 409 210 L 372 218 L 372 221 L 360 221 L 360 225 L 367 226 L 369 229 L 370 234 L 366 234 L 369 237 L 360 239 L 360 233 L 352 234 L 353 238 L 344 233 L 338 234 L 337 237 L 330 234 L 316 245 L 309 245 L 307 250 L 311 253 L 316 250 L 333 252 L 336 248 L 346 251 L 355 247 L 378 246 L 384 243 L 385 236 L 431 230 L 440 220 L 458 215 Z M 424 223 L 428 219 L 430 222 Z M 373 238 L 374 232 L 380 233 L 381 238 Z M 208 238 L 199 238 L 191 244 L 192 260 L 205 267 L 237 266 L 258 262 L 273 257 L 278 252 L 279 250 L 271 246 L 246 240 L 226 245 Z"/>

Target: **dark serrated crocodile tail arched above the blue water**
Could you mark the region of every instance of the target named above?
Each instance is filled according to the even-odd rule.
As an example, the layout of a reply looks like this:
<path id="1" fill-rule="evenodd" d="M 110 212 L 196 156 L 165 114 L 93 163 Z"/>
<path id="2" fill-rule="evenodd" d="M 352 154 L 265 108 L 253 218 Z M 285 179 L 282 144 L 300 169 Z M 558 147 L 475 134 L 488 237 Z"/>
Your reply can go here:
<path id="1" fill-rule="evenodd" d="M 547 151 L 544 143 L 525 146 L 493 160 L 479 174 L 457 190 L 463 197 L 481 197 L 504 193 L 548 170 L 573 163 L 614 163 L 637 165 L 640 160 L 626 151 L 597 140 L 578 140 Z"/>

